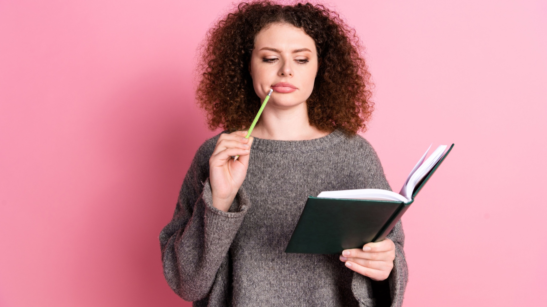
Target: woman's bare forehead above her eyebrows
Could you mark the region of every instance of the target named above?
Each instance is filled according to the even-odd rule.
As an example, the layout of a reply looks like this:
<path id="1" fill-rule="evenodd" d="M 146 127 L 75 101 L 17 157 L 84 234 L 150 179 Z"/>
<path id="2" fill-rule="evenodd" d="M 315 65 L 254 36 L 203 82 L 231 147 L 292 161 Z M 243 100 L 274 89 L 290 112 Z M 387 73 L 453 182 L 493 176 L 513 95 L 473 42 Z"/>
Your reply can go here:
<path id="1" fill-rule="evenodd" d="M 315 41 L 304 32 L 288 23 L 272 23 L 258 32 L 254 39 L 255 50 L 268 46 L 282 51 L 289 51 L 300 48 L 315 50 Z"/>

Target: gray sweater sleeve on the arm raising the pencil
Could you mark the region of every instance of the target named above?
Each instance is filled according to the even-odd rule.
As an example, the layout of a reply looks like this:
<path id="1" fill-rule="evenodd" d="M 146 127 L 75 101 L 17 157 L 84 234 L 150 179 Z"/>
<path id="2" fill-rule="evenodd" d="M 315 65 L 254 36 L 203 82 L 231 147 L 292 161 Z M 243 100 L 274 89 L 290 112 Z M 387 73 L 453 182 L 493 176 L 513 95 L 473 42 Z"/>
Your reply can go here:
<path id="1" fill-rule="evenodd" d="M 173 218 L 159 237 L 167 284 L 187 301 L 202 299 L 211 291 L 250 205 L 240 189 L 228 212 L 214 208 L 208 179 L 209 155 L 201 149 L 184 178 Z"/>

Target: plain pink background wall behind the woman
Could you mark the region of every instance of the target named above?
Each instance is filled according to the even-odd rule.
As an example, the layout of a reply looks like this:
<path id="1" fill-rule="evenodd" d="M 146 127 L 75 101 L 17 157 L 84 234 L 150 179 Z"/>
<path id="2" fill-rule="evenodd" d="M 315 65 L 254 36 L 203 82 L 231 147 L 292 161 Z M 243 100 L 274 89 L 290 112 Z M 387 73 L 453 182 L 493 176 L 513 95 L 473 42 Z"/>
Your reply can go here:
<path id="1" fill-rule="evenodd" d="M 158 235 L 208 131 L 195 49 L 229 1 L 0 2 L 0 306 L 190 306 Z M 336 1 L 368 48 L 365 137 L 394 190 L 456 143 L 403 217 L 405 306 L 540 305 L 547 4 Z"/>

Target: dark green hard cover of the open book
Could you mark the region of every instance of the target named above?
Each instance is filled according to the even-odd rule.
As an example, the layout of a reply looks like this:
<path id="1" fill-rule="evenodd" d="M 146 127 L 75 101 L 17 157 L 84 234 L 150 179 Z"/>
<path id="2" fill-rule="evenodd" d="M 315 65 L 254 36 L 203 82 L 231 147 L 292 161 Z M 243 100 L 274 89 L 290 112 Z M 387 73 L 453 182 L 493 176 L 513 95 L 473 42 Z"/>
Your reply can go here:
<path id="1" fill-rule="evenodd" d="M 385 239 L 453 146 L 418 182 L 410 202 L 308 197 L 285 252 L 336 254 Z"/>

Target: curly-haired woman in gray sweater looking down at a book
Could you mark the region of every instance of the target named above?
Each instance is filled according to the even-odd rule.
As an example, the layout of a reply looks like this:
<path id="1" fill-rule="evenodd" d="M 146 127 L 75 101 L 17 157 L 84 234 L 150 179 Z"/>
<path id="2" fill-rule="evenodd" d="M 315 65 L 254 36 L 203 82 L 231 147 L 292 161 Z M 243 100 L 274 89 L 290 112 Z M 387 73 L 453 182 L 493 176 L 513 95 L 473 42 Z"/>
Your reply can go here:
<path id="1" fill-rule="evenodd" d="M 356 134 L 372 104 L 353 30 L 322 5 L 241 3 L 213 27 L 197 99 L 212 129 L 160 243 L 171 288 L 194 306 L 400 306 L 400 221 L 342 255 L 284 253 L 307 196 L 391 190 Z M 274 90 L 251 138 L 245 128 Z M 237 160 L 232 156 L 239 155 Z"/>

